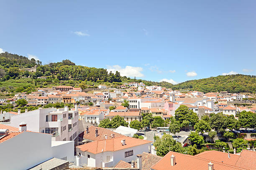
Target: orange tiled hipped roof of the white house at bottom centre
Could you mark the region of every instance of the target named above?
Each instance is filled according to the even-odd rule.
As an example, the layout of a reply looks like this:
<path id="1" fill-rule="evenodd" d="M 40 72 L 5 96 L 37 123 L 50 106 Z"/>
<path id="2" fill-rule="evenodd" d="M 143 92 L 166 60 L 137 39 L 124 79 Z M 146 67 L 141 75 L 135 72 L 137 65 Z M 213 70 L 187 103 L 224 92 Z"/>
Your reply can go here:
<path id="1" fill-rule="evenodd" d="M 121 140 L 125 140 L 125 145 L 122 145 Z M 118 151 L 126 148 L 132 148 L 135 146 L 151 143 L 148 140 L 142 140 L 137 138 L 131 138 L 127 136 L 110 138 L 107 140 L 97 140 L 94 142 L 86 143 L 84 145 L 77 146 L 82 151 L 87 151 L 93 154 Z"/>

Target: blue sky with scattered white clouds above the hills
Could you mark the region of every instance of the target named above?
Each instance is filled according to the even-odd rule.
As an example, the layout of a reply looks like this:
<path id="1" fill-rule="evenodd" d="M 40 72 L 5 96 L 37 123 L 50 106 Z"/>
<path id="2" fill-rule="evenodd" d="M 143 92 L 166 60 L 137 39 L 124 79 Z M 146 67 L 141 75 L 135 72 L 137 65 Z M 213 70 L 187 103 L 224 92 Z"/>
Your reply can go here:
<path id="1" fill-rule="evenodd" d="M 173 84 L 256 75 L 255 0 L 8 0 L 0 52 Z"/>

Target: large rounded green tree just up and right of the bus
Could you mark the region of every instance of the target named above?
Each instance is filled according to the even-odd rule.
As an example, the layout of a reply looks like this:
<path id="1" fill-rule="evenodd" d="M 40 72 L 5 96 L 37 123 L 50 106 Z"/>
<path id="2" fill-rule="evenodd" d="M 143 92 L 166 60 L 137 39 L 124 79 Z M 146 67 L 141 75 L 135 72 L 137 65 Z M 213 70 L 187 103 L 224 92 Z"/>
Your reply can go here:
<path id="1" fill-rule="evenodd" d="M 177 110 L 175 110 L 175 120 L 179 121 L 182 124 L 183 120 L 187 120 L 190 122 L 190 125 L 194 126 L 199 118 L 195 112 L 189 110 L 189 108 L 185 105 L 180 105 Z"/>

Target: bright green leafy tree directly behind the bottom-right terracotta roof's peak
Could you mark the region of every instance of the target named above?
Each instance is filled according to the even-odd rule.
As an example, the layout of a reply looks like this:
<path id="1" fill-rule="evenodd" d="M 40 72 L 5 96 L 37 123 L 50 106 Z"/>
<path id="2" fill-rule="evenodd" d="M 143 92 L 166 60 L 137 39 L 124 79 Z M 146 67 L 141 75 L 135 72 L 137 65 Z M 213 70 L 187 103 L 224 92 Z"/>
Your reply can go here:
<path id="1" fill-rule="evenodd" d="M 169 151 L 183 153 L 181 143 L 176 142 L 171 135 L 164 134 L 161 139 L 157 138 L 153 145 L 156 148 L 156 155 L 159 156 L 164 156 Z"/>

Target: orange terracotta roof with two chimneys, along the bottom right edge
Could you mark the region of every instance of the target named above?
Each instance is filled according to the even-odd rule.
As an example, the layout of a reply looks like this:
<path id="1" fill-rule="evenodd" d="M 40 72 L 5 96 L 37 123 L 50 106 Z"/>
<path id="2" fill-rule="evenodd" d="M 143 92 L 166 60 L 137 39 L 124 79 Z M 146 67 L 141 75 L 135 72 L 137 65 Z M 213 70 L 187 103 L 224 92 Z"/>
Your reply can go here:
<path id="1" fill-rule="evenodd" d="M 175 156 L 176 164 L 174 166 L 171 166 L 171 158 L 170 158 L 171 155 Z M 207 170 L 208 163 L 210 162 L 213 164 L 214 170 L 246 170 L 244 168 L 239 168 L 237 166 L 227 165 L 224 163 L 210 161 L 210 160 L 206 160 L 196 156 L 176 153 L 172 151 L 167 153 L 164 156 L 164 158 L 162 158 L 158 163 L 156 163 L 151 169 L 152 170 Z M 251 160 L 251 162 L 253 162 L 253 159 Z"/>

